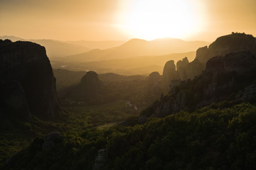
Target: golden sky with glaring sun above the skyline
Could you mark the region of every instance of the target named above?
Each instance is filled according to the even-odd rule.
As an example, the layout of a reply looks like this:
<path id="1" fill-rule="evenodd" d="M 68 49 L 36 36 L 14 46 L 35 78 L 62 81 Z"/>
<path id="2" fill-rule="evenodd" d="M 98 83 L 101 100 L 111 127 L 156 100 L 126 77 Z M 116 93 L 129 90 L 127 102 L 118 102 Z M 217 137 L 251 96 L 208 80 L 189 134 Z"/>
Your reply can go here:
<path id="1" fill-rule="evenodd" d="M 0 35 L 25 39 L 256 36 L 255 0 L 0 0 Z"/>

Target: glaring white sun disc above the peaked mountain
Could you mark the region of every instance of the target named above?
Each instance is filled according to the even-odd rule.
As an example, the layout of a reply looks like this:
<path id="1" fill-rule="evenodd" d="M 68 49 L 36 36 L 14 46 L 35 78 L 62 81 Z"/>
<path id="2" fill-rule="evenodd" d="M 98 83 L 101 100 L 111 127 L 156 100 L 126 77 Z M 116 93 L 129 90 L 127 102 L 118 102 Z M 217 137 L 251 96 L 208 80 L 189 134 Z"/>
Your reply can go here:
<path id="1" fill-rule="evenodd" d="M 200 29 L 188 0 L 133 0 L 119 17 L 122 30 L 134 38 L 183 38 Z"/>

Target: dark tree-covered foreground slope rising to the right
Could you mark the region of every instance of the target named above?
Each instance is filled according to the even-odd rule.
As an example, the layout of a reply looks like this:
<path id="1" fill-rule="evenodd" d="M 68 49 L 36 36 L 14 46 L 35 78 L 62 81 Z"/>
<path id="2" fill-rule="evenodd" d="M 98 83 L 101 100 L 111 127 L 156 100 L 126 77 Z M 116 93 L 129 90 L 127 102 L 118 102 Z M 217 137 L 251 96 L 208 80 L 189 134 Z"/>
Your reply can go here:
<path id="1" fill-rule="evenodd" d="M 102 169 L 255 169 L 256 106 L 216 106 L 134 127 L 69 127 L 48 149 L 36 138 L 4 169 L 92 169 L 102 148 L 108 151 Z"/>

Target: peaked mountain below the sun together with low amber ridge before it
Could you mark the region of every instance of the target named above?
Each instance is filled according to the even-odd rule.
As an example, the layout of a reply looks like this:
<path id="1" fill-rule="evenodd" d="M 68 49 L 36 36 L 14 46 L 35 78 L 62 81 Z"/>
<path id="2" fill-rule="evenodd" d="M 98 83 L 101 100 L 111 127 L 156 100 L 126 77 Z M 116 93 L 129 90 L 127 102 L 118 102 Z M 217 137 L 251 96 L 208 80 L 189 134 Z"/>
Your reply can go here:
<path id="1" fill-rule="evenodd" d="M 150 74 L 161 72 L 166 60 L 181 60 L 187 57 L 193 60 L 196 49 L 208 42 L 166 38 L 157 40 L 132 39 L 117 47 L 105 50 L 95 49 L 78 55 L 71 55 L 59 60 L 52 60 L 54 68 L 74 71 L 94 70 L 98 73 L 114 72 L 117 74 Z"/>

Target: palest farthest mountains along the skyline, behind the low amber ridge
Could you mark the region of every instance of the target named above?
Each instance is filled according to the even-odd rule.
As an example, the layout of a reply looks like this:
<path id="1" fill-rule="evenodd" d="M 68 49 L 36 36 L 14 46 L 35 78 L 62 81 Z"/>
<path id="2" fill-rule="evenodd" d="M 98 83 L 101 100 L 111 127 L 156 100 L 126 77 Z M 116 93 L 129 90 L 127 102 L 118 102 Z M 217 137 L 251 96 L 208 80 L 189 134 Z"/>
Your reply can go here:
<path id="1" fill-rule="evenodd" d="M 91 62 L 98 60 L 120 59 L 146 55 L 168 55 L 196 51 L 198 47 L 209 45 L 205 41 L 183 41 L 175 38 L 163 38 L 151 41 L 132 39 L 125 41 L 60 41 L 27 40 L 15 36 L 0 36 L 11 41 L 31 41 L 46 47 L 50 59 L 65 62 Z M 65 57 L 63 60 L 62 57 Z M 58 59 L 59 58 L 59 59 Z"/>

